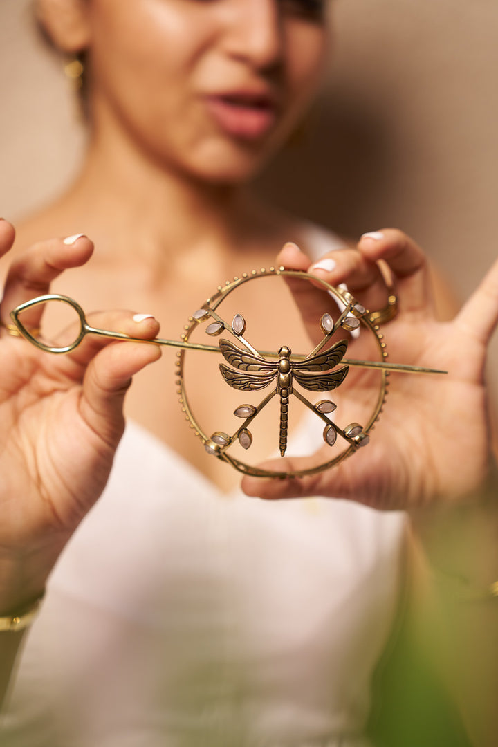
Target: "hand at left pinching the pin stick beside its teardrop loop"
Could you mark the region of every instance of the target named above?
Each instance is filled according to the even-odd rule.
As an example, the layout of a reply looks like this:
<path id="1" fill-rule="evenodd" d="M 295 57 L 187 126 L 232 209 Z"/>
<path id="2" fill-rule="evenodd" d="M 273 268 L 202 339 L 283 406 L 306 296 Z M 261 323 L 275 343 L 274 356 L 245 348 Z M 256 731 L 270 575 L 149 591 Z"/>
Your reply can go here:
<path id="1" fill-rule="evenodd" d="M 14 230 L 0 220 L 0 256 Z M 51 356 L 9 335 L 10 311 L 49 292 L 63 270 L 93 252 L 86 236 L 36 244 L 10 266 L 0 305 L 0 614 L 32 598 L 78 523 L 96 502 L 124 430 L 131 376 L 161 356 L 156 345 L 87 337 Z M 40 307 L 23 316 L 40 326 Z M 26 318 L 28 317 L 28 318 Z M 158 322 L 102 312 L 94 326 L 153 338 Z"/>

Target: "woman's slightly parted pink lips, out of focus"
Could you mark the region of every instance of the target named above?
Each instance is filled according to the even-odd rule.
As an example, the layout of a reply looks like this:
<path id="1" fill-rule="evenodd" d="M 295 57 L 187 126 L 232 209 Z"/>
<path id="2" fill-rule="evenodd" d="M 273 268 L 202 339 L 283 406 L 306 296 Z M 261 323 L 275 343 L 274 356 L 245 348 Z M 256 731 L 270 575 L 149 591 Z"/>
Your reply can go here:
<path id="1" fill-rule="evenodd" d="M 231 137 L 258 140 L 276 120 L 276 107 L 267 96 L 227 94 L 205 100 L 217 125 Z"/>

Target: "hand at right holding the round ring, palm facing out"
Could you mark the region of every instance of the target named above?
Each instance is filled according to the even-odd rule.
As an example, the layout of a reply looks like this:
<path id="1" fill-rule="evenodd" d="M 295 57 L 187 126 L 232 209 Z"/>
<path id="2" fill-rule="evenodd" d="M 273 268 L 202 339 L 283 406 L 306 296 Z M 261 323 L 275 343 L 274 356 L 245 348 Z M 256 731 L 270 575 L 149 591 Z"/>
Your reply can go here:
<path id="1" fill-rule="evenodd" d="M 392 373 L 385 411 L 367 447 L 335 468 L 305 477 L 244 477 L 242 487 L 248 495 L 269 499 L 323 495 L 377 509 L 410 510 L 466 500 L 488 479 L 493 459 L 484 368 L 498 320 L 498 261 L 449 322 L 435 316 L 422 250 L 398 230 L 364 235 L 355 249 L 331 252 L 314 264 L 295 245 L 287 244 L 277 261 L 289 269 L 308 270 L 331 285 L 345 282 L 358 302 L 373 311 L 387 301 L 376 264 L 379 260 L 389 266 L 399 297 L 398 314 L 382 326 L 389 361 L 442 369 L 447 374 Z M 295 284 L 293 290 L 313 333 L 329 307 L 327 296 L 311 283 L 300 283 L 299 288 Z M 353 341 L 348 357 L 355 357 L 350 355 L 354 346 Z M 361 397 L 365 395 L 365 401 L 372 403 L 379 383 L 370 380 L 369 385 L 363 383 Z M 354 382 L 350 371 L 340 393 L 354 397 Z M 365 419 L 369 412 L 371 405 L 370 411 L 366 405 Z M 324 445 L 323 462 L 330 459 L 329 449 Z M 286 469 L 304 469 L 310 464 L 305 457 L 285 460 Z M 264 466 L 281 468 L 282 462 Z"/>

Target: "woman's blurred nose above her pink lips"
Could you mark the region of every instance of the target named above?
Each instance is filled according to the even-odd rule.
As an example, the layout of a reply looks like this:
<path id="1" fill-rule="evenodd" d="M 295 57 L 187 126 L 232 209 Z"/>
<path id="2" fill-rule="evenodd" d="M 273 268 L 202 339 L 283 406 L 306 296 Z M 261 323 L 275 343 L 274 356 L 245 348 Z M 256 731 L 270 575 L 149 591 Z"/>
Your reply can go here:
<path id="1" fill-rule="evenodd" d="M 278 0 L 231 0 L 225 16 L 225 51 L 255 69 L 281 62 L 284 28 Z"/>

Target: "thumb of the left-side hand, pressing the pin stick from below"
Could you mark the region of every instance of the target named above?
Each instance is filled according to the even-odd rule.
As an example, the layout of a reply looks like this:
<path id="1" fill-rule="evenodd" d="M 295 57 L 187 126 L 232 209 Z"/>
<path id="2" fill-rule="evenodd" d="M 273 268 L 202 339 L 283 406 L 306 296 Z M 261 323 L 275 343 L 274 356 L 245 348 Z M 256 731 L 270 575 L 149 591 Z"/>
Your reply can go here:
<path id="1" fill-rule="evenodd" d="M 83 380 L 81 416 L 89 427 L 110 444 L 121 436 L 125 394 L 132 376 L 161 357 L 158 345 L 116 342 L 92 359 Z"/>

